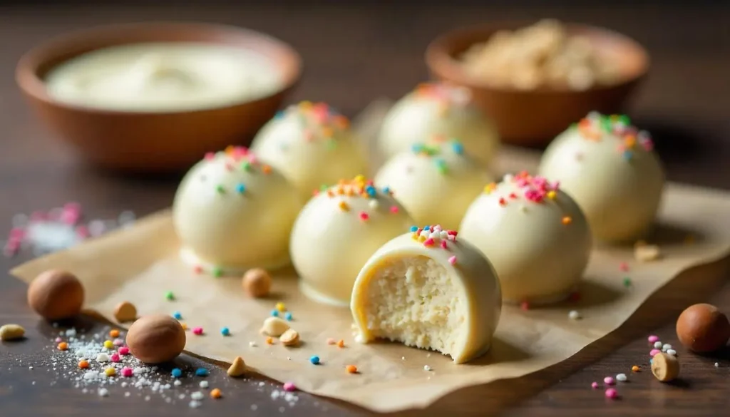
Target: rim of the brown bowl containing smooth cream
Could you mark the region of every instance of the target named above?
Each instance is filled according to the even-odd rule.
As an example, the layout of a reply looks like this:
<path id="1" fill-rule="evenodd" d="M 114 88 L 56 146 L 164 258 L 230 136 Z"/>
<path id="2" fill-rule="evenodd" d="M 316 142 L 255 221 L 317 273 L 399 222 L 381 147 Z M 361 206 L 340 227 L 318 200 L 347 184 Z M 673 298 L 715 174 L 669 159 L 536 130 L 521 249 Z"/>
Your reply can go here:
<path id="1" fill-rule="evenodd" d="M 164 30 L 191 30 L 191 31 L 207 31 L 210 33 L 223 33 L 229 34 L 234 37 L 248 37 L 261 39 L 267 42 L 269 47 L 274 50 L 278 50 L 283 56 L 286 56 L 292 65 L 285 67 L 282 72 L 282 83 L 271 93 L 267 93 L 264 96 L 260 96 L 257 99 L 242 99 L 237 102 L 228 102 L 226 104 L 200 107 L 186 110 L 155 110 L 155 111 L 139 111 L 139 110 L 115 110 L 103 107 L 95 107 L 92 105 L 76 104 L 71 102 L 65 102 L 64 100 L 55 99 L 51 96 L 46 88 L 46 83 L 39 77 L 39 67 L 43 66 L 48 61 L 48 55 L 55 50 L 56 47 L 68 47 L 68 45 L 74 45 L 75 43 L 81 42 L 82 39 L 93 36 L 122 36 L 123 34 L 131 31 L 138 30 L 150 30 L 164 31 Z M 128 42 L 128 44 L 122 42 L 114 45 L 131 45 L 135 43 L 147 43 L 155 41 L 142 41 L 142 42 Z M 161 41 L 159 41 L 161 42 Z M 195 41 L 164 41 L 164 42 L 195 42 Z M 221 45 L 223 42 L 210 42 L 214 45 Z M 108 45 L 108 46 L 114 46 Z M 101 46 L 104 47 L 104 46 Z M 85 52 L 91 52 L 98 50 L 101 47 L 96 47 Z M 82 52 L 82 53 L 85 53 Z M 73 57 L 69 57 L 73 58 Z M 63 62 L 63 61 L 61 61 Z M 59 62 L 58 64 L 60 64 Z M 282 66 L 277 66 L 282 68 Z M 294 88 L 297 83 L 301 80 L 303 73 L 302 58 L 299 52 L 297 52 L 291 45 L 284 42 L 277 37 L 265 34 L 263 32 L 254 31 L 253 29 L 243 28 L 239 26 L 226 25 L 221 23 L 204 23 L 204 22 L 186 22 L 186 21 L 172 21 L 172 20 L 150 20 L 139 23 L 112 23 L 106 25 L 92 26 L 89 28 L 75 29 L 73 31 L 67 31 L 62 34 L 55 35 L 48 39 L 39 42 L 30 50 L 23 53 L 23 56 L 18 60 L 18 64 L 15 67 L 15 83 L 18 84 L 20 89 L 45 104 L 50 104 L 55 107 L 64 107 L 70 110 L 76 110 L 80 112 L 88 112 L 97 115 L 125 115 L 125 116 L 142 116 L 142 115 L 190 115 L 193 113 L 200 112 L 211 112 L 215 110 L 228 109 L 231 107 L 239 107 L 243 105 L 257 104 L 260 102 L 266 102 L 274 96 L 277 96 L 285 91 L 289 91 Z"/>

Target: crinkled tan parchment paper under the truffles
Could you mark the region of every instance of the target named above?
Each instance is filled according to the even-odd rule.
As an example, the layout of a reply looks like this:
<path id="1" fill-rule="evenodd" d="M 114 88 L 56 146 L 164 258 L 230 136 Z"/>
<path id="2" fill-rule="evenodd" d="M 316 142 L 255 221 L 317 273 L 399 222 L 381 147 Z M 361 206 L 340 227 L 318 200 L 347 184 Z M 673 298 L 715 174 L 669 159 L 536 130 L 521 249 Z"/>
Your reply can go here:
<path id="1" fill-rule="evenodd" d="M 536 158 L 506 149 L 499 162 L 500 170 L 514 171 L 534 168 Z M 82 280 L 87 306 L 112 321 L 112 311 L 121 301 L 133 302 L 140 314 L 178 310 L 188 326 L 202 326 L 206 332 L 188 333 L 187 351 L 228 362 L 242 356 L 256 372 L 270 378 L 386 412 L 425 407 L 458 388 L 519 377 L 569 358 L 620 326 L 650 294 L 683 270 L 728 256 L 730 222 L 718 221 L 727 213 L 730 194 L 669 184 L 653 237 L 653 243 L 661 246 L 661 260 L 634 261 L 630 247 L 596 248 L 579 302 L 528 311 L 505 305 L 490 353 L 461 365 L 439 353 L 394 343 L 358 345 L 349 311 L 304 298 L 291 270 L 275 275 L 274 294 L 265 300 L 248 299 L 239 278 L 195 275 L 177 259 L 178 241 L 168 211 L 28 262 L 11 273 L 28 282 L 45 269 L 68 269 Z M 688 234 L 694 236 L 691 245 L 685 242 Z M 628 272 L 619 268 L 621 262 L 629 265 Z M 623 286 L 626 277 L 633 283 L 629 288 Z M 173 291 L 176 299 L 166 301 L 166 291 Z M 259 334 L 276 302 L 285 302 L 293 313 L 291 325 L 301 334 L 299 348 L 278 342 L 266 345 Z M 569 310 L 580 311 L 583 319 L 570 320 Z M 220 335 L 222 326 L 231 329 L 231 336 Z M 344 339 L 345 348 L 327 345 L 328 337 Z M 257 346 L 250 346 L 252 341 Z M 312 355 L 320 356 L 322 364 L 310 364 Z M 347 364 L 355 364 L 360 373 L 347 374 Z M 432 370 L 424 370 L 424 365 Z"/>

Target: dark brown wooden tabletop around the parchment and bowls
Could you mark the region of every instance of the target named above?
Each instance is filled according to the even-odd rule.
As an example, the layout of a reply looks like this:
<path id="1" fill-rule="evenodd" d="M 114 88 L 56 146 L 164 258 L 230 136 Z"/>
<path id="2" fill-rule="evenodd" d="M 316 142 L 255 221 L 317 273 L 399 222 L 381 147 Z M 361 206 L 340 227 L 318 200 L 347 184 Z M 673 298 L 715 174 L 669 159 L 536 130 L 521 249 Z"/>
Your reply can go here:
<path id="1" fill-rule="evenodd" d="M 170 204 L 176 178 L 123 178 L 78 164 L 32 117 L 13 82 L 21 53 L 46 37 L 73 28 L 137 20 L 204 20 L 247 26 L 291 42 L 304 57 L 306 75 L 293 99 L 325 100 L 353 115 L 379 96 L 400 96 L 426 77 L 423 50 L 440 31 L 482 20 L 556 17 L 614 28 L 648 47 L 652 70 L 631 115 L 653 131 L 669 178 L 730 189 L 730 6 L 694 1 L 691 5 L 636 2 L 543 1 L 427 2 L 269 1 L 236 6 L 177 1 L 156 7 L 109 6 L 95 2 L 59 6 L 34 1 L 0 6 L 0 229 L 15 213 L 81 202 L 90 218 L 110 218 L 120 210 L 145 215 Z M 264 2 L 259 2 L 264 3 Z M 414 2 L 415 4 L 415 2 Z M 543 5 L 541 5 L 543 4 Z M 580 4 L 580 7 L 578 6 Z M 727 4 L 727 3 L 726 3 Z M 718 219 L 730 221 L 730 218 Z M 3 223 L 6 226 L 3 226 Z M 0 258 L 7 270 L 24 259 Z M 680 348 L 683 378 L 662 384 L 649 372 L 629 375 L 618 401 L 604 399 L 590 383 L 633 364 L 648 363 L 648 334 L 678 345 L 676 315 L 693 302 L 710 301 L 730 311 L 726 263 L 692 269 L 663 288 L 617 332 L 577 356 L 526 378 L 458 391 L 428 410 L 400 416 L 726 416 L 730 357 L 699 357 Z M 25 287 L 0 275 L 0 322 L 28 329 L 24 343 L 0 345 L 1 416 L 274 416 L 280 402 L 255 382 L 230 381 L 216 370 L 211 385 L 225 399 L 192 410 L 187 402 L 169 405 L 124 398 L 120 390 L 101 399 L 82 394 L 48 364 L 53 328 L 26 307 Z M 99 324 L 85 320 L 91 329 Z M 95 327 L 96 326 L 96 327 Z M 196 359 L 185 358 L 185 361 Z M 713 363 L 718 361 L 720 367 Z M 34 370 L 28 366 L 36 364 Z M 186 383 L 189 383 L 186 382 Z M 250 405 L 258 405 L 251 411 Z M 363 410 L 301 394 L 286 408 L 289 416 L 360 416 Z"/>

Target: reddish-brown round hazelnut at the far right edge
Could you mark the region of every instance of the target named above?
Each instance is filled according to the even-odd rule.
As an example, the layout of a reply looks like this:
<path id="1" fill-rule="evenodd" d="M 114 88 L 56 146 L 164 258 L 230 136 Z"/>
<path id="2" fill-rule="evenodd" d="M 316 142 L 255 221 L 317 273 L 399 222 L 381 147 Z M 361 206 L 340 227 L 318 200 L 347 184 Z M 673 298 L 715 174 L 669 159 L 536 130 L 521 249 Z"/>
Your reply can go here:
<path id="1" fill-rule="evenodd" d="M 730 322 L 714 305 L 691 305 L 677 318 L 677 337 L 691 351 L 714 352 L 728 342 Z"/>

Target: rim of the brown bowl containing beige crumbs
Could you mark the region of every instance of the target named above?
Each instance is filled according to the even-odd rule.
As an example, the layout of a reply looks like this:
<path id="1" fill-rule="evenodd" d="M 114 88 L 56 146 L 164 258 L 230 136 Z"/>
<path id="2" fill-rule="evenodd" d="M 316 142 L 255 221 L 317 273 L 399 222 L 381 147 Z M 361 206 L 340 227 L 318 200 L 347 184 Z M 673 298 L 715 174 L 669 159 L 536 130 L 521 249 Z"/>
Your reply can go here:
<path id="1" fill-rule="evenodd" d="M 517 88 L 504 87 L 499 85 L 492 85 L 484 80 L 480 80 L 477 77 L 473 77 L 464 71 L 463 64 L 455 58 L 447 50 L 447 44 L 454 38 L 465 37 L 467 35 L 474 34 L 486 34 L 487 32 L 493 33 L 500 29 L 514 30 L 516 28 L 523 28 L 526 26 L 533 25 L 539 20 L 499 20 L 491 23 L 480 23 L 469 26 L 459 26 L 452 28 L 448 31 L 439 34 L 435 39 L 429 42 L 426 47 L 424 57 L 426 59 L 426 65 L 429 70 L 441 77 L 446 82 L 458 83 L 467 87 L 472 88 L 483 88 L 489 91 L 495 91 L 499 93 L 519 93 L 525 95 L 551 95 L 551 94 L 581 94 L 590 93 L 591 91 L 606 91 L 618 88 L 622 85 L 635 83 L 641 80 L 649 72 L 650 68 L 650 57 L 645 47 L 643 47 L 635 39 L 632 39 L 625 34 L 621 34 L 618 31 L 614 31 L 609 28 L 602 26 L 593 26 L 586 23 L 575 23 L 560 21 L 561 25 L 568 29 L 568 31 L 587 31 L 591 33 L 599 33 L 607 35 L 608 37 L 619 39 L 626 45 L 630 45 L 639 56 L 639 69 L 637 71 L 627 74 L 621 78 L 617 83 L 610 85 L 593 85 L 587 90 L 569 90 L 567 88 L 553 88 L 549 85 L 539 85 L 537 88 L 529 90 L 519 90 Z M 484 39 L 486 40 L 486 38 Z M 478 41 L 477 41 L 478 42 Z M 483 42 L 483 41 L 482 41 Z M 474 45 L 472 43 L 472 45 Z"/>

